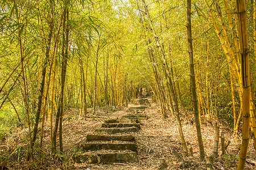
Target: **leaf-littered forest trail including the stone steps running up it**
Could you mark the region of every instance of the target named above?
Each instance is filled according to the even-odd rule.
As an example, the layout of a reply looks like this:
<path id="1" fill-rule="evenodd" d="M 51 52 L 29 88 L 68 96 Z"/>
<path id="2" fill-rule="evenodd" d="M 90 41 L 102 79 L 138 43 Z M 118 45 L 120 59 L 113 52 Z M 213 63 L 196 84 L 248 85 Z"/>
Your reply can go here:
<path id="1" fill-rule="evenodd" d="M 151 105 L 140 104 L 139 101 L 142 100 L 150 101 Z M 137 118 L 132 115 L 136 115 Z M 10 149 L 10 153 L 13 152 L 6 167 L 9 169 L 204 169 L 205 162 L 200 162 L 199 158 L 192 112 L 189 112 L 188 119 L 185 119 L 184 113 L 181 112 L 181 121 L 187 145 L 191 145 L 193 148 L 193 158 L 183 158 L 183 149 L 175 118 L 170 116 L 163 120 L 158 106 L 151 103 L 150 97 L 137 99 L 137 104 L 129 104 L 124 109 L 114 109 L 113 107 L 97 109 L 96 116 L 88 114 L 86 120 L 79 116 L 78 109 L 71 109 L 65 112 L 63 122 L 65 164 L 61 164 L 60 160 L 56 161 L 51 156 L 50 128 L 47 124 L 43 143 L 45 155 L 35 157 L 40 161 L 36 163 L 34 160 L 33 163 L 31 160 L 31 163 L 28 163 L 24 161 L 25 154 L 18 155 L 17 151 L 13 152 L 14 146 L 21 149 L 27 146 L 27 141 L 20 142 L 20 139 L 26 135 L 26 131 L 23 130 L 14 133 L 16 135 L 6 140 L 6 148 Z M 131 125 L 133 125 L 132 128 L 129 127 Z M 226 152 L 234 155 L 236 145 L 234 145 L 232 130 L 226 127 L 226 125 L 221 125 L 221 131 L 224 131 L 226 141 L 232 141 Z M 118 132 L 117 130 L 124 129 L 126 132 L 131 131 L 115 134 Z M 205 151 L 207 155 L 210 155 L 214 143 L 214 126 L 202 124 L 201 129 Z M 111 134 L 109 135 L 109 133 Z M 101 139 L 97 140 L 101 141 L 96 142 L 96 138 L 99 137 Z M 109 141 L 111 138 L 119 141 Z M 57 141 L 57 143 L 59 142 Z M 86 154 L 81 154 L 81 147 L 87 151 Z M 4 150 L 3 146 L 1 149 Z M 181 156 L 181 159 L 177 158 L 175 151 Z M 42 154 L 42 152 L 38 153 Z M 249 148 L 248 155 L 249 159 L 255 159 L 253 148 Z M 19 159 L 17 159 L 18 156 Z M 237 158 L 235 156 L 232 159 L 221 156 L 215 159 L 213 164 L 214 169 L 236 169 L 236 166 Z M 247 166 L 255 169 L 253 164 L 247 164 Z"/>

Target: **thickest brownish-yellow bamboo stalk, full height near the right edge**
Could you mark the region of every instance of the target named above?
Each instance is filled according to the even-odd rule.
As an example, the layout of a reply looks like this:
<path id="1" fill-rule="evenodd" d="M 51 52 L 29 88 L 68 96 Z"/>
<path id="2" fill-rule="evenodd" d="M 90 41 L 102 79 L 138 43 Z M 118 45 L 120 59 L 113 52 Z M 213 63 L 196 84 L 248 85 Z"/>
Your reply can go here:
<path id="1" fill-rule="evenodd" d="M 245 0 L 237 0 L 238 36 L 241 54 L 241 78 L 242 78 L 242 145 L 237 169 L 244 169 L 247 155 L 247 148 L 250 138 L 250 68 L 249 68 L 249 45 L 246 21 Z"/>

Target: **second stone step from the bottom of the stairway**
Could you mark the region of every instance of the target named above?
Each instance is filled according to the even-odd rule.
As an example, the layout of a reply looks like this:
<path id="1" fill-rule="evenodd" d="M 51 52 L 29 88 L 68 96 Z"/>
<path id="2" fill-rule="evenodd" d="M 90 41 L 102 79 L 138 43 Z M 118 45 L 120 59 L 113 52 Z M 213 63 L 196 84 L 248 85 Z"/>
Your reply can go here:
<path id="1" fill-rule="evenodd" d="M 80 145 L 82 151 L 98 151 L 98 150 L 130 150 L 137 152 L 137 145 L 131 142 L 122 143 L 106 143 L 106 142 L 89 142 Z"/>

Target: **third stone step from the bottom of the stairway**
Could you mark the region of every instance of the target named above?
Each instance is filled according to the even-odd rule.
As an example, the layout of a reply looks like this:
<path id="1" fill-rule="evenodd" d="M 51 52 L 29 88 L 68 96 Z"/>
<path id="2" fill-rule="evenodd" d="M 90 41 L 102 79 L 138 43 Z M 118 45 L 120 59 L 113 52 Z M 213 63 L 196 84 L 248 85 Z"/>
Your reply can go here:
<path id="1" fill-rule="evenodd" d="M 134 141 L 133 135 L 86 135 L 87 141 Z"/>

